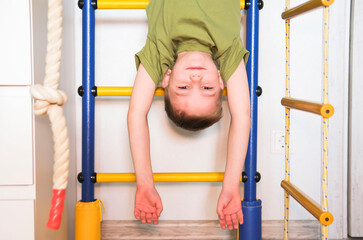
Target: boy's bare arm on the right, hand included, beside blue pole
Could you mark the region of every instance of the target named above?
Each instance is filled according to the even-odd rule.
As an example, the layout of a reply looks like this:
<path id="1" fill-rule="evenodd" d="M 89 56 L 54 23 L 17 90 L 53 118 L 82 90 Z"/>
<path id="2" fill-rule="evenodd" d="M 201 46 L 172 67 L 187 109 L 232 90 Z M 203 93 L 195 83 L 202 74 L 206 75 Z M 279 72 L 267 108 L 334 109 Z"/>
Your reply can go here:
<path id="1" fill-rule="evenodd" d="M 250 97 L 244 61 L 227 82 L 231 123 L 228 135 L 227 164 L 217 212 L 221 227 L 238 228 L 243 223 L 239 185 L 250 133 Z"/>

